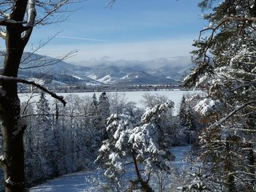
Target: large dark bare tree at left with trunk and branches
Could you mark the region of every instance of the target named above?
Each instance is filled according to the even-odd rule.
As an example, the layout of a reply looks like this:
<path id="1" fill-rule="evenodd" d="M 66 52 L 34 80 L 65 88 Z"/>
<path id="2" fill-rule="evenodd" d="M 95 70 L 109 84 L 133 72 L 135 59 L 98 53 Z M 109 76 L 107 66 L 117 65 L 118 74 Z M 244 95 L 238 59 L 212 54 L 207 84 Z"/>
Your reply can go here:
<path id="1" fill-rule="evenodd" d="M 64 18 L 56 13 L 64 12 L 62 8 L 69 3 L 72 2 L 70 0 L 0 0 L 0 37 L 4 39 L 6 45 L 4 65 L 0 72 L 0 119 L 3 136 L 3 155 L 0 161 L 4 169 L 4 185 L 7 192 L 26 191 L 23 150 L 26 121 L 20 117 L 17 83 L 36 85 L 37 88 L 47 91 L 34 82 L 17 77 L 23 50 L 29 42 L 34 26 L 63 20 Z M 48 19 L 48 16 L 54 17 Z M 63 98 L 54 93 L 51 95 L 65 104 Z"/>

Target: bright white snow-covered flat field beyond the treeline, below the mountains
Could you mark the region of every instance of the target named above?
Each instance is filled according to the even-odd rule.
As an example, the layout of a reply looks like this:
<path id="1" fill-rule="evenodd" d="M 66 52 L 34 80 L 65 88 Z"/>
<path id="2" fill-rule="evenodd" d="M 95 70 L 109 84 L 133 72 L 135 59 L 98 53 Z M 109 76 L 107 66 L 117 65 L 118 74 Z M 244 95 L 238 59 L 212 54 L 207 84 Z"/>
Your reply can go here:
<path id="1" fill-rule="evenodd" d="M 75 94 L 78 96 L 89 96 L 92 97 L 93 94 L 96 93 L 97 98 L 99 98 L 99 95 L 102 92 L 93 92 L 93 93 L 58 93 L 60 96 L 67 96 L 69 94 Z M 113 94 L 113 93 L 119 93 L 119 94 L 123 94 L 125 93 L 126 97 L 127 97 L 127 101 L 134 101 L 138 107 L 143 107 L 143 105 L 140 103 L 140 100 L 143 98 L 143 94 L 144 93 L 150 93 L 151 95 L 154 94 L 159 94 L 159 95 L 164 95 L 167 96 L 168 99 L 172 100 L 175 104 L 175 110 L 173 115 L 176 115 L 177 113 L 177 109 L 178 109 L 178 105 L 180 104 L 181 101 L 181 97 L 183 94 L 192 94 L 192 93 L 200 93 L 200 91 L 181 91 L 179 89 L 173 89 L 172 91 L 127 91 L 127 92 L 108 92 L 107 95 Z M 22 93 L 19 94 L 20 96 L 20 101 L 27 101 L 29 99 L 29 97 L 31 96 L 30 93 Z M 31 101 L 37 101 L 37 99 L 39 98 L 39 94 L 35 93 L 35 96 L 31 99 Z M 50 99 L 50 96 L 47 94 L 47 99 Z"/>

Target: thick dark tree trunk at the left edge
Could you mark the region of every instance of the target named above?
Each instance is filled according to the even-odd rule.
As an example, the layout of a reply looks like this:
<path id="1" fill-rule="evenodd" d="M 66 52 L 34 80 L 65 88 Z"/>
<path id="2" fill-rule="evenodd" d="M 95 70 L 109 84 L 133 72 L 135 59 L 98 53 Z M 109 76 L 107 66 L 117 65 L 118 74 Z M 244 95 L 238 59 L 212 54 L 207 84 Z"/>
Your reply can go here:
<path id="1" fill-rule="evenodd" d="M 22 21 L 26 12 L 26 0 L 15 1 L 10 18 Z M 1 74 L 18 76 L 18 67 L 26 42 L 21 38 L 22 25 L 7 26 L 4 69 Z M 0 82 L 0 118 L 3 137 L 3 157 L 6 192 L 22 192 L 25 189 L 23 132 L 26 123 L 20 117 L 20 100 L 16 82 Z"/>

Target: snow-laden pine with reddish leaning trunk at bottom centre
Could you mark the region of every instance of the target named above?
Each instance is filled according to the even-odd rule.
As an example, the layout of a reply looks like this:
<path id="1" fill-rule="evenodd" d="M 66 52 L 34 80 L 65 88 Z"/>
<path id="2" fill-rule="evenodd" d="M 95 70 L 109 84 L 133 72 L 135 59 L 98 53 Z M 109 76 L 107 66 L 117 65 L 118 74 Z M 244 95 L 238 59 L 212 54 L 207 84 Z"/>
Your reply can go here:
<path id="1" fill-rule="evenodd" d="M 111 115 L 107 121 L 109 139 L 99 149 L 99 162 L 105 169 L 105 177 L 118 182 L 118 176 L 126 172 L 125 165 L 132 158 L 136 179 L 129 188 L 140 186 L 141 190 L 151 191 L 148 181 L 150 174 L 157 171 L 170 171 L 170 161 L 174 156 L 168 150 L 170 146 L 170 111 L 173 102 L 157 104 L 148 110 L 139 122 L 129 115 Z M 173 134 L 174 134 L 173 130 Z M 143 179 L 138 164 L 143 166 Z"/>

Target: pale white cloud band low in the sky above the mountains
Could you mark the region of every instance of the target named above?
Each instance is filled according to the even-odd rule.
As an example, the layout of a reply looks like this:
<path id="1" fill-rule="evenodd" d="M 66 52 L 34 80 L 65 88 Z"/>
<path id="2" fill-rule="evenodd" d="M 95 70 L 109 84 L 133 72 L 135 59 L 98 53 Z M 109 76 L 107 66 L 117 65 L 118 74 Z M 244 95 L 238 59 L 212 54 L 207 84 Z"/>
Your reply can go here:
<path id="1" fill-rule="evenodd" d="M 155 58 L 176 58 L 188 56 L 192 50 L 192 39 L 162 39 L 148 42 L 98 42 L 97 44 L 48 45 L 39 54 L 49 56 L 63 55 L 70 50 L 79 50 L 69 58 L 69 62 L 88 61 L 108 57 L 108 60 L 148 61 Z"/>

